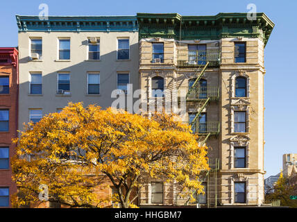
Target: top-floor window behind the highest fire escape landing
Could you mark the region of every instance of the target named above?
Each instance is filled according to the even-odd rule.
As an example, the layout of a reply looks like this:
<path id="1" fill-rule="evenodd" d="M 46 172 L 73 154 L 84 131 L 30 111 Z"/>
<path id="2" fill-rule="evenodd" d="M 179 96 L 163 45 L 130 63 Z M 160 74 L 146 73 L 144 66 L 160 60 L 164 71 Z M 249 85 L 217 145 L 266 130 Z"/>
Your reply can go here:
<path id="1" fill-rule="evenodd" d="M 206 44 L 189 44 L 189 64 L 205 65 L 206 64 Z"/>

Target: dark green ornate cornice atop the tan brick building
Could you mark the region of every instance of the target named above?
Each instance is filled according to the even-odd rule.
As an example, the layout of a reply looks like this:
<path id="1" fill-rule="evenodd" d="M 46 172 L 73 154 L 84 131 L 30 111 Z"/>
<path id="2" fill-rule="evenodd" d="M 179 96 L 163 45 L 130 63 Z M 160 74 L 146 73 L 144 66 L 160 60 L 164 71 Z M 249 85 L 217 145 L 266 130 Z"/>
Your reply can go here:
<path id="1" fill-rule="evenodd" d="M 139 38 L 166 37 L 176 40 L 219 40 L 222 37 L 259 37 L 266 42 L 274 24 L 264 14 L 254 20 L 247 13 L 219 13 L 214 16 L 181 16 L 137 13 Z"/>

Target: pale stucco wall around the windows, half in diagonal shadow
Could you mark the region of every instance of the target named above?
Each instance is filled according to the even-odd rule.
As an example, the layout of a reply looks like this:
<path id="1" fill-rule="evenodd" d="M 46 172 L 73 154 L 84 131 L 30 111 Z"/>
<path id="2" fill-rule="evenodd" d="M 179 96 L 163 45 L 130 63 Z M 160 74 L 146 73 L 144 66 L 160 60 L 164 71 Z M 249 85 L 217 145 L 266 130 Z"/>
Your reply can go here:
<path id="1" fill-rule="evenodd" d="M 42 37 L 42 61 L 30 60 L 30 37 Z M 58 60 L 58 38 L 69 37 L 70 60 Z M 100 38 L 100 61 L 87 60 L 87 38 Z M 128 37 L 130 59 L 117 60 L 117 38 Z M 112 90 L 117 89 L 117 72 L 130 74 L 133 90 L 139 88 L 139 46 L 137 32 L 27 32 L 19 33 L 19 129 L 28 122 L 29 109 L 42 108 L 42 114 L 56 112 L 69 101 L 83 101 L 84 105 L 96 104 L 110 107 L 114 99 Z M 29 94 L 29 74 L 42 72 L 42 96 Z M 100 95 L 87 94 L 87 72 L 100 74 Z M 71 95 L 57 95 L 58 72 L 69 72 Z M 131 96 L 132 94 L 130 94 Z"/>

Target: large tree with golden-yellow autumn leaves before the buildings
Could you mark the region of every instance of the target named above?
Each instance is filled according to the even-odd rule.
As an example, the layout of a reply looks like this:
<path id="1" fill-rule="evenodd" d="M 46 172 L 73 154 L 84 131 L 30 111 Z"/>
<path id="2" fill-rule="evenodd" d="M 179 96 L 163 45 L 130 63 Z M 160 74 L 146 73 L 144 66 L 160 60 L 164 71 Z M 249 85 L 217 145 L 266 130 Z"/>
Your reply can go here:
<path id="1" fill-rule="evenodd" d="M 207 148 L 189 126 L 167 114 L 144 117 L 112 108 L 69 103 L 38 123 L 28 123 L 12 160 L 22 195 L 14 205 L 39 203 L 40 185 L 49 200 L 69 207 L 100 207 L 94 188 L 109 180 L 122 207 L 131 207 L 141 177 L 176 182 L 203 192 L 199 173 L 208 169 Z M 30 158 L 28 158 L 30 157 Z"/>

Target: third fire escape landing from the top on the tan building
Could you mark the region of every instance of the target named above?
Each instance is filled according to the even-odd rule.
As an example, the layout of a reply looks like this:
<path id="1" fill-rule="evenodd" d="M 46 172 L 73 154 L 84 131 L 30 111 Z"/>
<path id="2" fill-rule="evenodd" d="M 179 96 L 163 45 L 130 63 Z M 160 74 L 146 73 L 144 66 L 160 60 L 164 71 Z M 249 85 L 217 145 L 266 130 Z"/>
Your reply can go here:
<path id="1" fill-rule="evenodd" d="M 187 124 L 191 124 L 189 122 L 185 122 Z M 215 122 L 211 122 L 211 121 L 207 121 L 205 123 L 199 123 L 198 121 L 196 121 L 193 125 L 192 125 L 192 131 L 195 134 L 198 135 L 208 135 L 210 133 L 210 135 L 219 135 L 219 128 L 220 124 L 218 121 Z"/>

